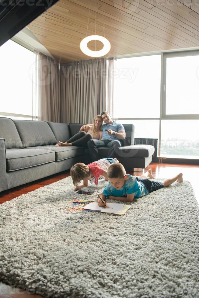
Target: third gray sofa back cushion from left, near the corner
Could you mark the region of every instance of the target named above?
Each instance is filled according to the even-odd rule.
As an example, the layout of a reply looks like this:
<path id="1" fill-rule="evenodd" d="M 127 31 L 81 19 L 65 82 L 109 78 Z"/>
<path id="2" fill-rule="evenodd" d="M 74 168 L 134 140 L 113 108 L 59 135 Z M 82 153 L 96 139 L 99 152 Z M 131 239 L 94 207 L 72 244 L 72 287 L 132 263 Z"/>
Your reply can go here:
<path id="1" fill-rule="evenodd" d="M 69 124 L 67 123 L 56 123 L 56 122 L 48 122 L 54 136 L 56 137 L 57 143 L 59 141 L 66 142 L 71 137 L 71 131 Z"/>

